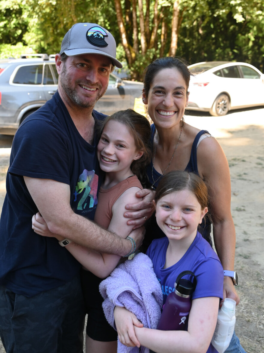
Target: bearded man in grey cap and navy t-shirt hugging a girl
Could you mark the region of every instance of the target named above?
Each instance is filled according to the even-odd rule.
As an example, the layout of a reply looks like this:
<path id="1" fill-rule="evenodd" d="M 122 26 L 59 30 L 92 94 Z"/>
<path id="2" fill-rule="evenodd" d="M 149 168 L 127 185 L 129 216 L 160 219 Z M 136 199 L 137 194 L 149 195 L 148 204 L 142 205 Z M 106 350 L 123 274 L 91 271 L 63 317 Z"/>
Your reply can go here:
<path id="1" fill-rule="evenodd" d="M 129 239 L 90 221 L 101 179 L 94 131 L 104 118 L 93 107 L 113 66 L 122 67 L 115 51 L 106 29 L 75 24 L 55 57 L 58 91 L 15 134 L 0 220 L 0 335 L 7 353 L 82 352 L 80 264 L 63 249 L 69 239 L 120 256 L 134 250 Z M 38 210 L 50 231 L 66 238 L 62 247 L 33 232 Z M 143 227 L 130 234 L 137 247 L 143 235 Z"/>

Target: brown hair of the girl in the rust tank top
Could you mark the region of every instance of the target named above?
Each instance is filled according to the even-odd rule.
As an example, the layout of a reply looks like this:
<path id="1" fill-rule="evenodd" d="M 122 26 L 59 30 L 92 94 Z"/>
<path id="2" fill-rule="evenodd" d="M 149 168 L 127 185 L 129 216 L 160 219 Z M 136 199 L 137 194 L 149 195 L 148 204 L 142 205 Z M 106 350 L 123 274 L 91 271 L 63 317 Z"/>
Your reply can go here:
<path id="1" fill-rule="evenodd" d="M 126 125 L 134 138 L 136 149 L 138 151 L 143 150 L 143 155 L 138 160 L 133 161 L 130 168 L 132 172 L 137 175 L 142 185 L 145 186 L 145 170 L 152 156 L 149 120 L 133 109 L 119 110 L 103 120 L 100 126 L 100 136 L 103 132 L 103 128 L 110 120 L 115 120 Z"/>

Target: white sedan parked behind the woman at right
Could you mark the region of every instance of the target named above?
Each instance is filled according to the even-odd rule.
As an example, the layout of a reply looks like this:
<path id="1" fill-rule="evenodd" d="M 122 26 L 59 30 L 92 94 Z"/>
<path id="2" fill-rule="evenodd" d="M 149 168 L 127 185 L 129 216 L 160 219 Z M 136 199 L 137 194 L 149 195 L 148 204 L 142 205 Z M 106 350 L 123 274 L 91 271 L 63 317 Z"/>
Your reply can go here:
<path id="1" fill-rule="evenodd" d="M 208 61 L 188 66 L 189 110 L 226 115 L 231 109 L 264 106 L 264 74 L 245 62 Z"/>

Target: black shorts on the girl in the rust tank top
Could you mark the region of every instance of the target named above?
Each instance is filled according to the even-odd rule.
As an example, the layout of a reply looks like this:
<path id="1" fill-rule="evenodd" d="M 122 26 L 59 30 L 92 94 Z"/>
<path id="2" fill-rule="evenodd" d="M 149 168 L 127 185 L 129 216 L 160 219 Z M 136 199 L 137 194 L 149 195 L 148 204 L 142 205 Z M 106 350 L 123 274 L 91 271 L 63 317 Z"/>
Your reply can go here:
<path id="1" fill-rule="evenodd" d="M 103 298 L 99 292 L 102 279 L 89 271 L 81 270 L 81 283 L 86 313 L 88 314 L 86 333 L 95 341 L 110 342 L 117 340 L 117 331 L 108 324 L 103 313 Z"/>

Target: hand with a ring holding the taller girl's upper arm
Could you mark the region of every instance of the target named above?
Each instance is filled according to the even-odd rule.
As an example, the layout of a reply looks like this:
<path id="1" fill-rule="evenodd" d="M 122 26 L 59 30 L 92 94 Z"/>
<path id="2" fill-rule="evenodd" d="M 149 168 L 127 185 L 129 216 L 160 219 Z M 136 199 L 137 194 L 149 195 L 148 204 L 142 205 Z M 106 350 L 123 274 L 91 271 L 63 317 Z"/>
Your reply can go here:
<path id="1" fill-rule="evenodd" d="M 153 205 L 155 192 L 149 189 L 143 189 L 136 193 L 137 197 L 143 197 L 143 200 L 133 204 L 127 204 L 126 209 L 131 212 L 124 213 L 124 217 L 133 218 L 127 222 L 128 225 L 134 225 L 133 229 L 144 225 L 147 219 L 151 217 L 155 211 Z"/>

